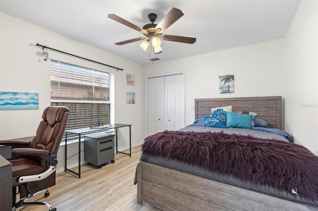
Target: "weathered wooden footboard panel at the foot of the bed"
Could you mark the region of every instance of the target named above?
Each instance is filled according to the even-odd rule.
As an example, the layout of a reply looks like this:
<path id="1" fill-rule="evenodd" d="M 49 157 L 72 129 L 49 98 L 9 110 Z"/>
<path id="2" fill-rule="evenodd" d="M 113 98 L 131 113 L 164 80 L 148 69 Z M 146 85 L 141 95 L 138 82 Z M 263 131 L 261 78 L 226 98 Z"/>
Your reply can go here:
<path id="1" fill-rule="evenodd" d="M 137 165 L 137 203 L 143 202 L 164 211 L 318 210 L 314 206 L 140 161 Z"/>

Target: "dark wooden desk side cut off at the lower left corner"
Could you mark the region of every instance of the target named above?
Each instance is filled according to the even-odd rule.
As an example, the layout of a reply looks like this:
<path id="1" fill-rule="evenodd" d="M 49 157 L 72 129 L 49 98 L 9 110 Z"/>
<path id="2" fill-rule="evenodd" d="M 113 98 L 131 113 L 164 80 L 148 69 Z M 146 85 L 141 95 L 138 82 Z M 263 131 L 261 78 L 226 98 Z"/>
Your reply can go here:
<path id="1" fill-rule="evenodd" d="M 0 211 L 12 210 L 12 163 L 0 155 Z"/>

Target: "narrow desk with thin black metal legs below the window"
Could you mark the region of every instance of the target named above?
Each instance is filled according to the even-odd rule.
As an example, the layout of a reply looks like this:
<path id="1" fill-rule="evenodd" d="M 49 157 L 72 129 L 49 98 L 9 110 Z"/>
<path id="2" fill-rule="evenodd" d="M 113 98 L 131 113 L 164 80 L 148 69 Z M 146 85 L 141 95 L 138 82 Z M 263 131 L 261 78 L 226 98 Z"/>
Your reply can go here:
<path id="1" fill-rule="evenodd" d="M 84 128 L 77 128 L 77 129 L 72 129 L 72 130 L 66 130 L 65 131 L 65 168 L 64 171 L 70 171 L 76 175 L 79 176 L 80 178 L 80 139 L 81 139 L 81 135 L 82 134 L 88 134 L 88 133 L 97 133 L 97 132 L 102 132 L 102 131 L 107 131 L 109 129 L 115 129 L 115 135 L 116 135 L 116 153 L 121 153 L 121 154 L 125 154 L 131 157 L 131 124 L 108 124 L 105 125 L 108 126 L 107 128 L 104 129 L 97 129 L 97 128 L 90 128 L 90 127 L 84 127 Z M 128 153 L 124 153 L 124 152 L 119 152 L 117 149 L 117 143 L 118 143 L 118 139 L 117 139 L 117 129 L 120 127 L 129 127 L 129 154 Z M 69 168 L 67 168 L 67 134 L 68 133 L 73 133 L 73 134 L 77 134 L 79 136 L 79 172 L 75 172 Z"/>

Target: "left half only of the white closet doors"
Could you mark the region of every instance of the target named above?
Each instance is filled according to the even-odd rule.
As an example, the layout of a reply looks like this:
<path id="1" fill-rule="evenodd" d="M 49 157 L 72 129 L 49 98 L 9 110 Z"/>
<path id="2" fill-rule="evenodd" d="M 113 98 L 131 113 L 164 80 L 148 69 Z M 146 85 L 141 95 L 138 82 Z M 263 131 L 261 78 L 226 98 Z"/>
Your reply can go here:
<path id="1" fill-rule="evenodd" d="M 164 130 L 164 77 L 148 79 L 148 135 Z"/>

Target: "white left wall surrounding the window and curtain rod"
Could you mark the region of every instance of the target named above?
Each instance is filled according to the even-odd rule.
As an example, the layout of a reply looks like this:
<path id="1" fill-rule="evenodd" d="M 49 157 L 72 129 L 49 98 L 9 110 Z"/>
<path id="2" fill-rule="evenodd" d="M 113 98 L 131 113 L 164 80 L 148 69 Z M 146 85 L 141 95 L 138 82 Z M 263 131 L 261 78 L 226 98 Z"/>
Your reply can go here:
<path id="1" fill-rule="evenodd" d="M 103 65 L 47 50 L 49 58 L 114 73 L 115 123 L 132 124 L 132 146 L 143 142 L 145 84 L 142 65 L 9 15 L 3 13 L 0 15 L 0 91 L 39 93 L 39 109 L 0 111 L 0 140 L 34 136 L 43 110 L 50 106 L 50 63 L 36 55 L 36 52 L 42 51 L 42 48 L 35 46 L 39 43 L 124 69 L 116 71 Z M 126 73 L 135 74 L 136 86 L 126 85 Z M 136 93 L 136 104 L 126 103 L 127 92 Z M 129 128 L 119 129 L 118 132 L 118 150 L 128 149 Z M 61 151 L 64 151 L 63 146 L 61 148 Z M 77 147 L 74 146 L 74 149 Z M 72 151 L 72 147 L 70 150 Z M 58 158 L 59 168 L 63 166 L 64 153 L 59 152 Z M 68 167 L 72 167 L 73 161 L 69 163 L 71 165 Z"/>

